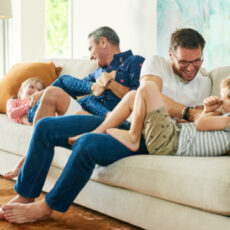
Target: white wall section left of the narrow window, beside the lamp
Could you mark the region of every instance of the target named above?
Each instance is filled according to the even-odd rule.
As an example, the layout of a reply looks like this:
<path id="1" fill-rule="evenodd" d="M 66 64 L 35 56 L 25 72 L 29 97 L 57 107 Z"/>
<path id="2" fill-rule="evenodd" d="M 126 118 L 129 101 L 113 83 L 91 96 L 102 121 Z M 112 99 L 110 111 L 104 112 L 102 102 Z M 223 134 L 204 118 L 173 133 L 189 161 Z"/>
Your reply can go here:
<path id="1" fill-rule="evenodd" d="M 45 0 L 12 0 L 10 63 L 37 60 L 45 53 Z"/>

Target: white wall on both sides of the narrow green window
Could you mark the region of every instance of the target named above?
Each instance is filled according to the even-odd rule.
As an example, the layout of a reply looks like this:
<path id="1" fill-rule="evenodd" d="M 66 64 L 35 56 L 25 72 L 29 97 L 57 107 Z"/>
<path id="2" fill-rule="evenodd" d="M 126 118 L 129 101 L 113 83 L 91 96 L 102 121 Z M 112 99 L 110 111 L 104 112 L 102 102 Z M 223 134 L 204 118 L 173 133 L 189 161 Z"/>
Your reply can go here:
<path id="1" fill-rule="evenodd" d="M 44 57 L 45 1 L 12 0 L 10 67 Z M 88 34 L 105 25 L 117 31 L 122 51 L 132 49 L 143 56 L 156 53 L 156 1 L 71 0 L 72 56 L 88 58 Z"/>

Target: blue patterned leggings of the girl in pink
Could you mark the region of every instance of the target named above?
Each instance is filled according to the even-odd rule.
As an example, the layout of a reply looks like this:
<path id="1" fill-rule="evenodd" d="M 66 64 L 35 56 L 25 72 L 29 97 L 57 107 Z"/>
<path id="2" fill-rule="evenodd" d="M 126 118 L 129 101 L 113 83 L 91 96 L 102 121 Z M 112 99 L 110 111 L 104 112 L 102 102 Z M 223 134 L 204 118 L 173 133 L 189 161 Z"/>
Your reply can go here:
<path id="1" fill-rule="evenodd" d="M 52 86 L 59 87 L 68 93 L 72 98 L 76 99 L 78 96 L 91 94 L 91 85 L 93 82 L 77 79 L 70 75 L 60 76 Z M 94 95 L 90 95 L 86 98 L 79 100 L 79 103 L 82 105 L 83 109 L 97 116 L 105 117 L 110 110 L 106 108 Z M 31 108 L 27 114 L 29 122 L 33 122 L 35 113 L 40 104 L 40 100 L 36 105 Z"/>

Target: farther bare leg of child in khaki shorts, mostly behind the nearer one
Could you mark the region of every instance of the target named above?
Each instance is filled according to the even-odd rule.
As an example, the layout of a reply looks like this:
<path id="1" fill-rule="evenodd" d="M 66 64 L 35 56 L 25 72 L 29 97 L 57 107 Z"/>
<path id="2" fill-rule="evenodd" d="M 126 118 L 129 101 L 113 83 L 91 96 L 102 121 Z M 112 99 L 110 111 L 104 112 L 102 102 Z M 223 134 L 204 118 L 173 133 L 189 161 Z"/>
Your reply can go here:
<path id="1" fill-rule="evenodd" d="M 106 129 L 111 127 L 117 127 L 122 124 L 131 114 L 133 110 L 133 102 L 136 91 L 130 91 L 127 93 L 120 103 L 114 108 L 112 112 L 109 112 L 105 121 L 98 126 L 92 133 L 105 133 Z M 70 145 L 74 144 L 83 134 L 70 137 L 68 142 Z"/>

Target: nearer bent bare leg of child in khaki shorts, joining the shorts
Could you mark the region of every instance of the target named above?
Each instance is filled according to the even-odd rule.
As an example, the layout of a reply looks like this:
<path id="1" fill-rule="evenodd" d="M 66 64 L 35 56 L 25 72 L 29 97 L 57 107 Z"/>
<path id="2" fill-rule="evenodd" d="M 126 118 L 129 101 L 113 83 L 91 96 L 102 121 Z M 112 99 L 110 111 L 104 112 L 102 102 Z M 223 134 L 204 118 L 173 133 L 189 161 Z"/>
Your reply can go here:
<path id="1" fill-rule="evenodd" d="M 120 130 L 116 128 L 107 129 L 107 133 L 120 141 L 131 151 L 137 151 L 140 145 L 141 133 L 147 112 L 154 111 L 164 106 L 161 92 L 152 81 L 142 81 L 137 90 L 133 120 L 130 130 Z"/>

